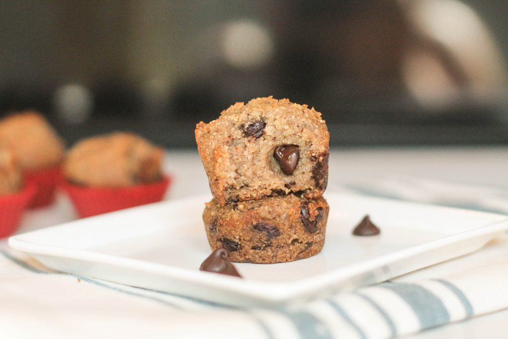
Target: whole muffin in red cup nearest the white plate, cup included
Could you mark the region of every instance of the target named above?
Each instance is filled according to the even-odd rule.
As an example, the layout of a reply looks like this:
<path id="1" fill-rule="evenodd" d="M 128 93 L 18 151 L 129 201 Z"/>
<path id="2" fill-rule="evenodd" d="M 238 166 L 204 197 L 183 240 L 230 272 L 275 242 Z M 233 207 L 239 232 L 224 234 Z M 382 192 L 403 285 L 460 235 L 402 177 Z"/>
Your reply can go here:
<path id="1" fill-rule="evenodd" d="M 171 181 L 163 155 L 131 133 L 88 138 L 68 152 L 62 187 L 82 218 L 160 201 Z"/>

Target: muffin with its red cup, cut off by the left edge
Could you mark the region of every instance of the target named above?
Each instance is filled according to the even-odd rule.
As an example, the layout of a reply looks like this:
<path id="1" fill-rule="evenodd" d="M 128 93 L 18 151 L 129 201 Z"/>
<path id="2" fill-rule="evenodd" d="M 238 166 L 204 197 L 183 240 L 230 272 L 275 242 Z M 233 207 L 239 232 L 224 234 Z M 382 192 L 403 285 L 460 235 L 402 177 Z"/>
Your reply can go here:
<path id="1" fill-rule="evenodd" d="M 35 186 L 23 185 L 21 170 L 13 152 L 0 148 L 0 238 L 14 233 L 21 214 L 34 196 Z"/>

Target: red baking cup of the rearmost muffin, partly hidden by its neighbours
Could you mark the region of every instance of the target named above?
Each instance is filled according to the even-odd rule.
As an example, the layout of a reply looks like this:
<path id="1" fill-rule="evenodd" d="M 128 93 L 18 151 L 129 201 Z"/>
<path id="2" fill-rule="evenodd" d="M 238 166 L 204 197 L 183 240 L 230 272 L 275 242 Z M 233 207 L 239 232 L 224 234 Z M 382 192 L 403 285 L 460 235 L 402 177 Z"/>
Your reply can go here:
<path id="1" fill-rule="evenodd" d="M 28 207 L 44 207 L 55 200 L 55 190 L 61 181 L 61 166 L 25 173 L 25 181 L 34 183 L 37 190 Z"/>

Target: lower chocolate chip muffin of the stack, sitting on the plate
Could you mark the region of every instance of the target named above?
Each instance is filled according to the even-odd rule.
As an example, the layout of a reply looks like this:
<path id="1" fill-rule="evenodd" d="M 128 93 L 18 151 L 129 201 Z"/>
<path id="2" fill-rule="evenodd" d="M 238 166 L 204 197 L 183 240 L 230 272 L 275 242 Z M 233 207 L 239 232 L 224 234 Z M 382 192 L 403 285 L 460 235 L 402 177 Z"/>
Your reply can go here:
<path id="1" fill-rule="evenodd" d="M 203 221 L 212 250 L 225 248 L 234 262 L 273 264 L 319 253 L 329 209 L 323 197 L 288 195 L 226 206 L 213 199 Z"/>

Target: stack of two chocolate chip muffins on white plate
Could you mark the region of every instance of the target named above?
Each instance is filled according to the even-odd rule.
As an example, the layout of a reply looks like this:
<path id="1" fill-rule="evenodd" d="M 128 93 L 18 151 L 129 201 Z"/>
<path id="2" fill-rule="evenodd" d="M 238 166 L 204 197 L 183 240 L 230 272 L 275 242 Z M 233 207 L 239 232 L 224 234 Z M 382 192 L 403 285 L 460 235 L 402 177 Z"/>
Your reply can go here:
<path id="1" fill-rule="evenodd" d="M 321 113 L 271 97 L 237 103 L 196 141 L 213 200 L 203 221 L 212 250 L 235 262 L 277 263 L 321 251 L 329 207 L 329 133 Z"/>

